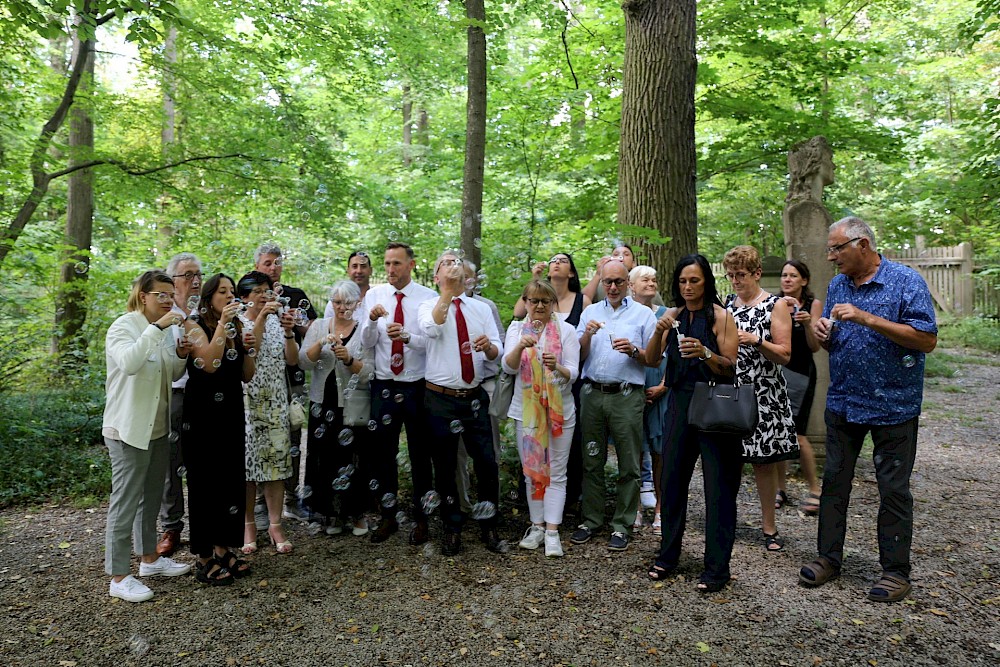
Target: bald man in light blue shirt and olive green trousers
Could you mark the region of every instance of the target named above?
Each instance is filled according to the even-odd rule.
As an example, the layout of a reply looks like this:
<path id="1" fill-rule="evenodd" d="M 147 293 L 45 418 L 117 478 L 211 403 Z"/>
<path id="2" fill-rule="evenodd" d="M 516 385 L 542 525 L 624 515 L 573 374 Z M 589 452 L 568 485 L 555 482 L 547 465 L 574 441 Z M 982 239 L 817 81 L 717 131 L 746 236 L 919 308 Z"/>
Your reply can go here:
<path id="1" fill-rule="evenodd" d="M 583 444 L 583 523 L 570 536 L 574 544 L 590 541 L 604 524 L 604 465 L 608 436 L 618 455 L 618 486 L 608 549 L 628 548 L 639 509 L 639 459 L 642 410 L 646 403 L 644 349 L 656 327 L 653 311 L 625 296 L 628 271 L 623 262 L 604 265 L 607 298 L 584 309 L 580 336 L 583 390 L 578 427 Z"/>

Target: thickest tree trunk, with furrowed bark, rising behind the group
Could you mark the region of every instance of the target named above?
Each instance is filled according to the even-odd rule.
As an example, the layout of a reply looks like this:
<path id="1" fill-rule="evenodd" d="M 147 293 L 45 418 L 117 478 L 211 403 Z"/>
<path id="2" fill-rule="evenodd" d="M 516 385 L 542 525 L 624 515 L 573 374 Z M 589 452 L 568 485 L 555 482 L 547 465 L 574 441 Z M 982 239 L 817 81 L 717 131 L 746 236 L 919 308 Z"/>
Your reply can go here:
<path id="1" fill-rule="evenodd" d="M 618 222 L 669 243 L 641 240 L 664 280 L 697 251 L 695 0 L 625 0 Z M 664 283 L 665 284 L 665 283 Z"/>

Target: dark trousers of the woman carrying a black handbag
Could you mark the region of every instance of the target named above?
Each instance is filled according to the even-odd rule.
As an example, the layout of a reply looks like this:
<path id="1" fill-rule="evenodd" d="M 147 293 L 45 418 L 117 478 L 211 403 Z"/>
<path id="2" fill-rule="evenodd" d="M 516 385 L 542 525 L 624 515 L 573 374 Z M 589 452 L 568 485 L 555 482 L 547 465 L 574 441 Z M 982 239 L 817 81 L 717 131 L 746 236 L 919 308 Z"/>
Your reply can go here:
<path id="1" fill-rule="evenodd" d="M 687 498 L 695 463 L 701 456 L 705 485 L 705 572 L 702 581 L 728 581 L 736 541 L 736 495 L 743 473 L 740 439 L 704 433 L 687 423 L 692 392 L 671 389 L 667 401 L 660 475 L 663 537 L 656 564 L 677 567 L 687 523 Z"/>

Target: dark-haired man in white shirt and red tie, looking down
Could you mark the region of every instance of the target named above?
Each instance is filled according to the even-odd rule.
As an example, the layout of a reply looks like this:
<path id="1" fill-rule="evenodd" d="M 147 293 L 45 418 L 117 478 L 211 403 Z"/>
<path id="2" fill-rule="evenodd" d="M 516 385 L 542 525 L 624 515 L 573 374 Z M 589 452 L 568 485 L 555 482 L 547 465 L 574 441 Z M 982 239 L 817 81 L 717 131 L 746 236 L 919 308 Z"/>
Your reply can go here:
<path id="1" fill-rule="evenodd" d="M 403 426 L 413 475 L 414 526 L 409 541 L 427 541 L 427 516 L 420 499 L 432 488 L 433 468 L 424 412 L 425 338 L 417 326 L 417 313 L 421 303 L 435 299 L 437 294 L 411 280 L 415 266 L 409 245 L 386 245 L 387 283 L 369 289 L 361 305 L 366 314 L 361 318 L 361 344 L 375 348 L 375 377 L 371 381 L 371 418 L 376 425 L 371 460 L 375 470 L 369 485 L 380 498 L 382 521 L 372 532 L 372 542 L 384 542 L 399 529 L 396 454 Z"/>

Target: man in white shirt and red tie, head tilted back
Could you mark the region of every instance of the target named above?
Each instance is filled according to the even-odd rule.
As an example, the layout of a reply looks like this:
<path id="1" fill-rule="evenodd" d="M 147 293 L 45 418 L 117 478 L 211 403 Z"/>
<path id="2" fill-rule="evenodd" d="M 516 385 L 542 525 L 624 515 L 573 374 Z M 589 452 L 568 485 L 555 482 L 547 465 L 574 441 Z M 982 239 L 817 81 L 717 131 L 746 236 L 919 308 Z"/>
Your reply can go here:
<path id="1" fill-rule="evenodd" d="M 497 534 L 500 479 L 493 452 L 490 397 L 481 384 L 484 365 L 503 351 L 489 306 L 465 294 L 465 268 L 450 253 L 438 259 L 434 271 L 440 296 L 420 306 L 420 330 L 426 336 L 427 368 L 424 406 L 430 422 L 434 477 L 444 524 L 443 552 L 462 550 L 464 515 L 455 484 L 459 436 L 476 471 L 477 500 L 473 517 L 480 539 L 490 551 L 502 553 Z"/>

